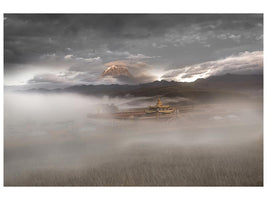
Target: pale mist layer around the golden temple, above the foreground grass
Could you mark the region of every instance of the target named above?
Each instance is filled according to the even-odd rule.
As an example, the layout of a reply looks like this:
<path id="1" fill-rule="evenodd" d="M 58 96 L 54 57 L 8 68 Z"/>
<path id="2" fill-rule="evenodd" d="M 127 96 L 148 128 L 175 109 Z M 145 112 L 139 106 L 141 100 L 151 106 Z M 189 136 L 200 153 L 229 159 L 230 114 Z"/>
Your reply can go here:
<path id="1" fill-rule="evenodd" d="M 195 106 L 192 112 L 168 121 L 87 117 L 101 105 L 127 109 L 154 103 L 148 98 L 6 93 L 5 176 L 12 182 L 17 180 L 14 174 L 95 168 L 103 163 L 155 158 L 177 148 L 181 151 L 176 153 L 238 149 L 262 137 L 261 102 L 220 102 L 201 112 Z"/>

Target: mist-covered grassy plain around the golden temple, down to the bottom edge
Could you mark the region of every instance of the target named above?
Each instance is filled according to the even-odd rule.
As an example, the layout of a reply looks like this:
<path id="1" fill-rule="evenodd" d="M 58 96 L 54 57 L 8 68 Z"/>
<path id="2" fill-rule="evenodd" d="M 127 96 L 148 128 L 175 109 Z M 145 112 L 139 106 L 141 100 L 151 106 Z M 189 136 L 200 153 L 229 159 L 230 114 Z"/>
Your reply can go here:
<path id="1" fill-rule="evenodd" d="M 177 117 L 97 115 L 156 99 L 5 93 L 5 185 L 262 185 L 261 101 L 162 98 Z"/>

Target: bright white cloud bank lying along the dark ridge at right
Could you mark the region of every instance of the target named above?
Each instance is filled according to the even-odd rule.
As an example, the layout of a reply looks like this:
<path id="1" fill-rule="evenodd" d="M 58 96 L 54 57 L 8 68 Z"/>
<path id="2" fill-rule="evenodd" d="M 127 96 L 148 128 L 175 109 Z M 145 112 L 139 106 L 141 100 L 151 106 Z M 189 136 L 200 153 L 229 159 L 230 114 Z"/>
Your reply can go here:
<path id="1" fill-rule="evenodd" d="M 208 61 L 195 65 L 169 70 L 162 78 L 176 81 L 191 82 L 198 78 L 225 73 L 245 74 L 263 70 L 263 52 L 242 52 L 216 61 Z"/>

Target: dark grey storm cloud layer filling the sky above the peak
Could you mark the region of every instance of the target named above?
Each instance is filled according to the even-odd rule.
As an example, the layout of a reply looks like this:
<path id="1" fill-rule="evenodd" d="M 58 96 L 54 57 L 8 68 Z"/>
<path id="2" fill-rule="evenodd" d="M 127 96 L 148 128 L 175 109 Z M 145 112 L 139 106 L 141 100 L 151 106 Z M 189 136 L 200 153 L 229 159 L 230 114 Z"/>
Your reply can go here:
<path id="1" fill-rule="evenodd" d="M 262 14 L 4 17 L 5 75 L 27 65 L 45 66 L 48 71 L 63 66 L 64 73 L 81 72 L 79 77 L 90 82 L 96 78 L 90 74 L 100 75 L 104 63 L 116 60 L 143 61 L 155 69 L 174 70 L 263 49 Z M 143 76 L 151 74 L 145 71 Z"/>

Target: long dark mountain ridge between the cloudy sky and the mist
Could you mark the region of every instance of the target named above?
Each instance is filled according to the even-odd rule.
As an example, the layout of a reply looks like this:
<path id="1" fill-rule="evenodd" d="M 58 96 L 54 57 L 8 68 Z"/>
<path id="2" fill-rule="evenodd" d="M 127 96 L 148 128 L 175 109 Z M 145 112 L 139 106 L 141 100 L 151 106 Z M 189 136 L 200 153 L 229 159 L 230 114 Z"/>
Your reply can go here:
<path id="1" fill-rule="evenodd" d="M 71 92 L 95 96 L 181 96 L 192 99 L 221 95 L 240 96 L 246 90 L 263 89 L 263 75 L 225 74 L 198 79 L 195 82 L 154 81 L 139 85 L 75 85 L 64 89 L 32 89 L 28 92 L 60 93 Z"/>

